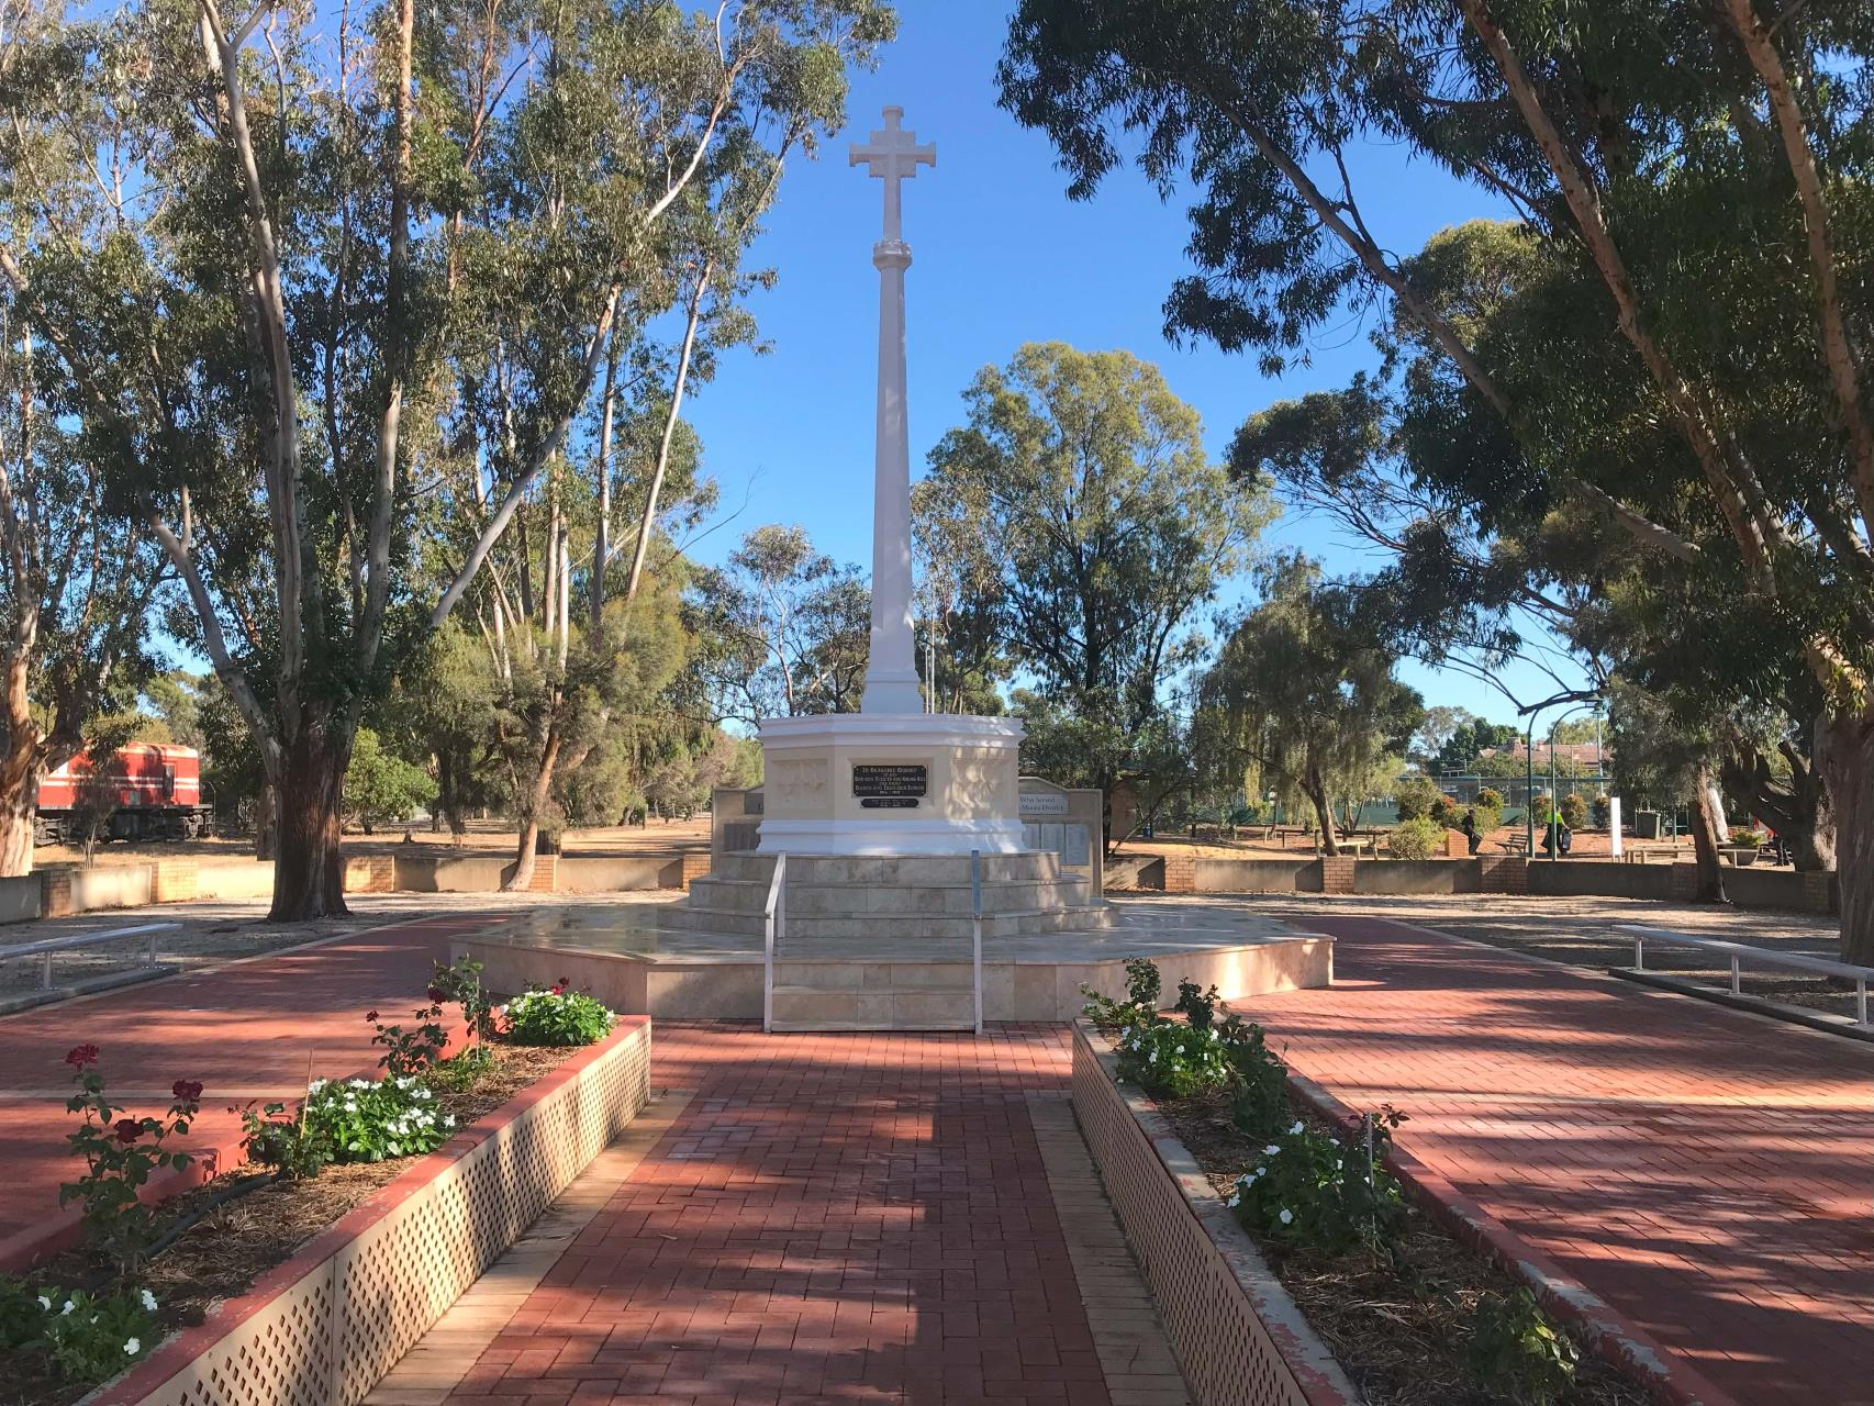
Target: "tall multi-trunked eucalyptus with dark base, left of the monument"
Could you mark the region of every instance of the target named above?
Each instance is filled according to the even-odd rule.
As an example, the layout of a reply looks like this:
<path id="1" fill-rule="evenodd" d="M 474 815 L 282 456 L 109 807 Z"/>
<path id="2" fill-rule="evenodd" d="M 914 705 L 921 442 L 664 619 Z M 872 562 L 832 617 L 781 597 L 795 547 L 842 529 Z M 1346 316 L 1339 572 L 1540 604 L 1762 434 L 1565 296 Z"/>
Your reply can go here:
<path id="1" fill-rule="evenodd" d="M 260 750 L 274 917 L 343 911 L 360 712 L 566 448 L 615 324 L 671 277 L 665 225 L 721 154 L 838 124 L 888 32 L 873 0 L 135 0 L 37 43 L 13 116 L 82 114 L 122 201 L 0 274 Z M 482 442 L 465 401 L 497 377 Z M 463 461 L 478 516 L 444 487 Z M 440 583 L 425 514 L 472 516 Z"/>

